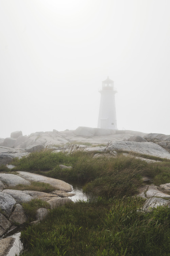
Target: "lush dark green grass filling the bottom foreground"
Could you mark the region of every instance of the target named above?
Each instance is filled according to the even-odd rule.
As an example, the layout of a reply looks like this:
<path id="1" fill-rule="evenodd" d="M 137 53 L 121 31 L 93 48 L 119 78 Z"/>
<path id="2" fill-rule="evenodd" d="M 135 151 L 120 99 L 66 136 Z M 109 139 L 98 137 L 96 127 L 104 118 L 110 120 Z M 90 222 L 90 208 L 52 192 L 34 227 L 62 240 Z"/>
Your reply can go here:
<path id="1" fill-rule="evenodd" d="M 141 198 L 66 204 L 21 232 L 22 256 L 170 255 L 170 209 L 149 214 Z"/>

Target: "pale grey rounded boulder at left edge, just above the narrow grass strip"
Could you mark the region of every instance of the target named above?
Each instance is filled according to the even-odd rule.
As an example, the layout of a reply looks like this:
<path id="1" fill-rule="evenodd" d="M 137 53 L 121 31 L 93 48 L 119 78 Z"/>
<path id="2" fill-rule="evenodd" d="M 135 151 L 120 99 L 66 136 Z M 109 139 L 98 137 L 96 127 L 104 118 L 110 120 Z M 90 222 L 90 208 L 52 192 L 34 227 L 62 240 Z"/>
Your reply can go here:
<path id="1" fill-rule="evenodd" d="M 26 179 L 23 179 L 18 175 L 10 174 L 10 173 L 0 173 L 0 180 L 3 183 L 7 184 L 8 186 L 12 186 L 12 187 L 18 184 L 31 185 L 31 183 Z"/>

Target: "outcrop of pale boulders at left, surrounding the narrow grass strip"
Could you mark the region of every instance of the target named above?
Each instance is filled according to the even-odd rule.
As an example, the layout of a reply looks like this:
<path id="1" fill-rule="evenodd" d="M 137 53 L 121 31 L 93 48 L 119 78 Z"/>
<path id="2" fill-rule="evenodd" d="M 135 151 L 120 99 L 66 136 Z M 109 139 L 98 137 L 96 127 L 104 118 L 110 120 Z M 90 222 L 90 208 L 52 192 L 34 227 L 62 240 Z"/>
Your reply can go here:
<path id="1" fill-rule="evenodd" d="M 18 184 L 30 185 L 31 181 L 51 184 L 56 187 L 56 191 L 49 194 L 32 190 L 21 191 L 16 189 L 5 189 L 6 186 L 15 187 Z M 40 199 L 48 202 L 52 209 L 70 202 L 71 200 L 68 197 L 75 195 L 73 193 L 68 193 L 68 191 L 72 191 L 73 188 L 70 184 L 64 181 L 28 172 L 18 172 L 18 175 L 0 173 L 0 189 L 0 236 L 5 234 L 13 224 L 22 225 L 27 221 L 27 216 L 23 211 L 22 203 L 29 202 L 32 199 Z M 38 209 L 37 220 L 35 223 L 47 214 L 47 209 Z"/>

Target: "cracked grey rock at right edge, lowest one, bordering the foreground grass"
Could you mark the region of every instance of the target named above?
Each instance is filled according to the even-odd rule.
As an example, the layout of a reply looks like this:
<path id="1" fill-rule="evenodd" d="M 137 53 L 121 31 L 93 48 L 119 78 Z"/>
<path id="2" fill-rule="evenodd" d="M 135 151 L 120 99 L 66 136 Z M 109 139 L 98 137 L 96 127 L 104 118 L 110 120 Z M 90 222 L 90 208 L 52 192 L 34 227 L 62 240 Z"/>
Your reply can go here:
<path id="1" fill-rule="evenodd" d="M 152 211 L 153 208 L 157 208 L 157 206 L 165 206 L 165 205 L 168 205 L 170 207 L 170 201 L 165 200 L 163 198 L 151 197 L 145 201 L 145 204 L 143 205 L 142 210 L 145 212 L 150 212 Z"/>

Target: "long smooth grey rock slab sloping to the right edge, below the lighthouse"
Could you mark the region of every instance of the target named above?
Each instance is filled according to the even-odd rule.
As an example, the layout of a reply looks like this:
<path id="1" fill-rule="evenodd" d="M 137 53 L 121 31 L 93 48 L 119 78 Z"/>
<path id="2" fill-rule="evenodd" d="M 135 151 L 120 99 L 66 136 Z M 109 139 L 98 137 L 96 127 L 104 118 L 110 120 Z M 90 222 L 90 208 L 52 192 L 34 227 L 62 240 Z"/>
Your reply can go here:
<path id="1" fill-rule="evenodd" d="M 110 151 L 136 152 L 170 159 L 170 153 L 161 146 L 152 142 L 112 141 L 108 143 L 106 148 L 106 152 Z"/>

